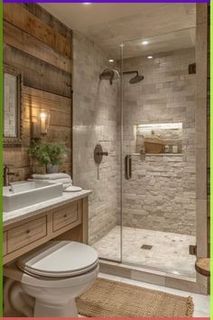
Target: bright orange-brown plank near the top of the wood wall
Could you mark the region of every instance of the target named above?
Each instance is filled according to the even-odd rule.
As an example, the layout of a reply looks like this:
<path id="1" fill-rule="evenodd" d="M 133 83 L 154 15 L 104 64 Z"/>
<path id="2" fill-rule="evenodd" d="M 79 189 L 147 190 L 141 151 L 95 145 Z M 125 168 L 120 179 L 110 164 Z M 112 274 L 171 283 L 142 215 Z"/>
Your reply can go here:
<path id="1" fill-rule="evenodd" d="M 56 52 L 60 52 L 62 55 L 71 58 L 70 40 L 57 33 L 49 25 L 44 24 L 42 20 L 24 9 L 23 6 L 5 4 L 4 19 L 38 40 L 50 45 Z"/>

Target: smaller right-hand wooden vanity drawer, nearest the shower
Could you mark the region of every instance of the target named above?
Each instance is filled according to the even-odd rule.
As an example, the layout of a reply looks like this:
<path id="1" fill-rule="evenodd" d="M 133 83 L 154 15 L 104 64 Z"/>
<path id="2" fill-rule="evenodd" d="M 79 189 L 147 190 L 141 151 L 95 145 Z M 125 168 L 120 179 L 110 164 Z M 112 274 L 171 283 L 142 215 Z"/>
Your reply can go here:
<path id="1" fill-rule="evenodd" d="M 78 202 L 53 211 L 53 231 L 58 231 L 74 222 L 79 221 Z"/>

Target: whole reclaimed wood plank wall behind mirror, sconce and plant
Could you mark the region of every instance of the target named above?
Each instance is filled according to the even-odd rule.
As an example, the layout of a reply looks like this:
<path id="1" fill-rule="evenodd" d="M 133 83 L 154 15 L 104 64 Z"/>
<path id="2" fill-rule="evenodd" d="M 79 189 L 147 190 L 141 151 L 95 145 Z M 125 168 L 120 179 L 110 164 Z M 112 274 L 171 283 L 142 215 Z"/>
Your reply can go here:
<path id="1" fill-rule="evenodd" d="M 5 147 L 4 162 L 24 180 L 44 173 L 27 154 L 31 144 L 32 109 L 49 109 L 50 130 L 42 142 L 69 147 L 60 171 L 71 174 L 72 149 L 72 32 L 37 4 L 4 5 L 4 63 L 23 75 L 23 144 Z"/>

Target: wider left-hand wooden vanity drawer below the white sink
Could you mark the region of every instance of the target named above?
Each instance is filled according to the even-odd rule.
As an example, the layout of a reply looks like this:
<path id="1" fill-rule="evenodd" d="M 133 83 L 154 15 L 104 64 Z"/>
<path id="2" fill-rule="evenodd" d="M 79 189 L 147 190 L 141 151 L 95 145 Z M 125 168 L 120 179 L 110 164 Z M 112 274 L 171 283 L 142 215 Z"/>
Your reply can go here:
<path id="1" fill-rule="evenodd" d="M 47 218 L 42 217 L 7 231 L 8 253 L 21 249 L 47 235 Z"/>

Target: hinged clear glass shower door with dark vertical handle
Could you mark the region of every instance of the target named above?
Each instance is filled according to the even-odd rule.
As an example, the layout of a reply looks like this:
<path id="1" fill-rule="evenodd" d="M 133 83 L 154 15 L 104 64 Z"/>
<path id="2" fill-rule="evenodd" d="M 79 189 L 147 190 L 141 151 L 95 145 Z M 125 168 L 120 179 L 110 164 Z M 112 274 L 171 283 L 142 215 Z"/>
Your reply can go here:
<path id="1" fill-rule="evenodd" d="M 122 262 L 190 277 L 194 63 L 194 28 L 124 42 Z"/>

